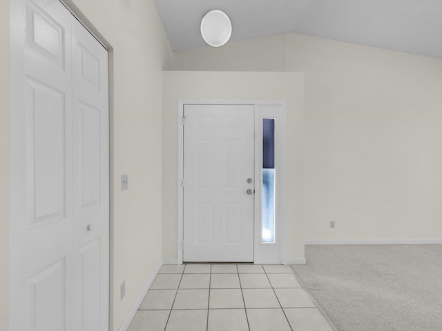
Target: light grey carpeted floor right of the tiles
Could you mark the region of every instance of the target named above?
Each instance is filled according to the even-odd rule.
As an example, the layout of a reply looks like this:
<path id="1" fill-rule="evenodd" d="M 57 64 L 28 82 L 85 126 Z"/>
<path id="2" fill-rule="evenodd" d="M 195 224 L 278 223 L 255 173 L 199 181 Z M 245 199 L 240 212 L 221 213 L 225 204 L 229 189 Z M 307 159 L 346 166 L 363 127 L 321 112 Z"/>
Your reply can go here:
<path id="1" fill-rule="evenodd" d="M 442 245 L 307 245 L 291 265 L 338 331 L 442 331 Z"/>

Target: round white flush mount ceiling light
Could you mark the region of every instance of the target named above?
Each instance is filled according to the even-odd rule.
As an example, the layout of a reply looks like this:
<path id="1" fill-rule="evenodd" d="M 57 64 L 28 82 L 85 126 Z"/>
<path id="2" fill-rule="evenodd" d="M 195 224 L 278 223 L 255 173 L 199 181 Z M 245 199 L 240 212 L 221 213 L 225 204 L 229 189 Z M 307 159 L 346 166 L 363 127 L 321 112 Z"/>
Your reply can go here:
<path id="1" fill-rule="evenodd" d="M 201 21 L 202 39 L 210 46 L 220 47 L 229 41 L 232 34 L 232 23 L 227 14 L 221 10 L 212 10 L 204 15 Z"/>

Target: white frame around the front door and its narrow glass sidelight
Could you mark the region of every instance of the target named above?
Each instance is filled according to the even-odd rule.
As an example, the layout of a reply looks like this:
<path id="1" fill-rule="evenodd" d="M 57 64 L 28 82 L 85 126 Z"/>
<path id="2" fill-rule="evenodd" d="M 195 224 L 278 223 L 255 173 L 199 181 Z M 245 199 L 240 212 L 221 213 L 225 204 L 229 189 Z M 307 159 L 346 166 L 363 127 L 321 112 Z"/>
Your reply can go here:
<path id="1" fill-rule="evenodd" d="M 183 263 L 183 230 L 184 230 L 184 105 L 253 105 L 255 106 L 255 156 L 261 155 L 262 132 L 257 132 L 262 119 L 274 118 L 275 121 L 275 167 L 276 172 L 276 242 L 260 242 L 261 191 L 256 187 L 254 194 L 254 258 L 256 264 L 286 264 L 286 178 L 287 178 L 287 102 L 281 100 L 179 100 L 178 101 L 178 215 L 177 215 L 177 263 Z M 261 121 L 260 121 L 261 120 Z M 259 143 L 261 142 L 261 143 Z M 261 169 L 255 162 L 255 178 L 261 178 Z M 259 181 L 260 182 L 260 181 Z"/>

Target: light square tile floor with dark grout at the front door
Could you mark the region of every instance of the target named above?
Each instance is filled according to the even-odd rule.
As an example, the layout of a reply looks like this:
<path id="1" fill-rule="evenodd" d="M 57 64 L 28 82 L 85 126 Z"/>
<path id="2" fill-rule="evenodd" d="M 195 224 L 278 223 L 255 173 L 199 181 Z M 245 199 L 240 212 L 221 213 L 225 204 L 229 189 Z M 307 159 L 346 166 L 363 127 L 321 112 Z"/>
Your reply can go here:
<path id="1" fill-rule="evenodd" d="M 163 265 L 128 331 L 334 331 L 286 265 Z"/>

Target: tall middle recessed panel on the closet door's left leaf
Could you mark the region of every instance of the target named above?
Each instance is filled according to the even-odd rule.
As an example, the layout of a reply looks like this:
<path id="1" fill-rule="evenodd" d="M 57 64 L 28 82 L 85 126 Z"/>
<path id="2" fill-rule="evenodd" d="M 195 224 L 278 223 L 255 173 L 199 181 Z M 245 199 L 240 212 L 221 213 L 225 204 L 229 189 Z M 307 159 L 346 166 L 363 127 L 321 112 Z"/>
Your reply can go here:
<path id="1" fill-rule="evenodd" d="M 26 81 L 29 225 L 64 218 L 65 97 L 44 83 Z"/>

